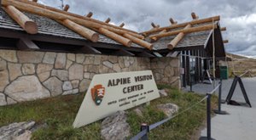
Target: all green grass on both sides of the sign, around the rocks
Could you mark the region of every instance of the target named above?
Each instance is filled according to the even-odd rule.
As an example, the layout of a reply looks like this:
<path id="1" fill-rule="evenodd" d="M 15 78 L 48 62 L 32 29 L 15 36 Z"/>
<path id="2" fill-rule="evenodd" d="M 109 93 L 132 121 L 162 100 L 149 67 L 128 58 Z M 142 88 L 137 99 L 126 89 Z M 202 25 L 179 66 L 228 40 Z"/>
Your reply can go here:
<path id="1" fill-rule="evenodd" d="M 150 106 L 143 105 L 143 117 L 138 116 L 133 109 L 128 110 L 127 121 L 131 126 L 132 135 L 139 132 L 141 123 L 153 124 L 166 118 L 163 112 L 156 109 L 156 104 L 177 104 L 179 111 L 182 111 L 203 98 L 195 93 L 181 93 L 166 85 L 159 85 L 159 87 L 170 89 L 168 97 L 156 99 L 151 102 Z M 84 94 L 81 93 L 0 107 L 0 126 L 12 122 L 35 120 L 39 125 L 46 123 L 47 127 L 33 132 L 32 139 L 101 139 L 102 120 L 89 126 L 73 129 L 73 120 L 83 98 Z M 217 99 L 213 99 L 216 103 Z M 157 127 L 149 133 L 149 138 L 191 139 L 195 132 L 198 132 L 199 127 L 204 124 L 204 120 L 206 120 L 205 102 Z"/>

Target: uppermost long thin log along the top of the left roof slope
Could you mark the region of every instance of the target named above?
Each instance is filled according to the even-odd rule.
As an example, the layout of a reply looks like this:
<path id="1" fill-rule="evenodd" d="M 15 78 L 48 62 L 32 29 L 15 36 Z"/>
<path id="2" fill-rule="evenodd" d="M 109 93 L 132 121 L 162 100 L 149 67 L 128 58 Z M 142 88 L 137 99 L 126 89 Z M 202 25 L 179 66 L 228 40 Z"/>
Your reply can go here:
<path id="1" fill-rule="evenodd" d="M 6 3 L 4 2 L 5 0 L 2 0 L 3 3 Z M 12 1 L 12 0 L 9 0 L 9 1 Z M 52 8 L 52 7 L 49 7 L 49 6 L 46 6 L 44 4 L 40 4 L 40 3 L 32 3 L 31 1 L 28 1 L 28 0 L 15 0 L 15 1 L 18 1 L 18 2 L 22 2 L 22 3 L 26 3 L 26 4 L 29 4 L 29 5 L 32 5 L 32 6 L 36 6 L 37 8 L 44 8 L 44 9 L 48 9 L 48 10 L 51 10 L 51 11 L 54 11 L 54 12 L 57 12 L 57 13 L 60 13 L 60 14 L 67 14 L 69 16 L 73 16 L 73 17 L 76 17 L 76 18 L 79 18 L 80 20 L 88 20 L 88 21 L 93 21 L 94 23 L 97 23 L 97 24 L 100 24 L 100 25 L 107 25 L 107 26 L 110 26 L 110 27 L 113 27 L 113 28 L 116 28 L 116 29 L 119 29 L 119 30 L 123 30 L 123 31 L 129 31 L 129 32 L 133 32 L 133 33 L 137 33 L 136 31 L 131 31 L 131 30 L 128 30 L 128 29 L 121 29 L 119 26 L 116 26 L 116 25 L 108 25 L 107 23 L 104 23 L 100 20 L 94 20 L 94 19 L 91 19 L 91 18 L 88 18 L 88 17 L 84 17 L 82 15 L 79 15 L 79 14 L 73 14 L 73 13 L 69 13 L 67 11 L 63 11 L 61 9 L 58 9 L 58 8 Z M 27 6 L 27 5 L 26 5 Z M 35 8 L 35 9 L 37 9 Z M 29 12 L 29 11 L 27 11 Z"/>

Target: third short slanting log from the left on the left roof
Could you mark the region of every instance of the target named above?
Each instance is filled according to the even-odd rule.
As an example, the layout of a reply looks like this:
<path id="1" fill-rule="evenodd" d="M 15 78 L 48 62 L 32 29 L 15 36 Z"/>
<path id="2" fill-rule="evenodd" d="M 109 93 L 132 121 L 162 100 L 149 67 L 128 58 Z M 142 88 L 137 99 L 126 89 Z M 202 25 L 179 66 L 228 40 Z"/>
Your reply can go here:
<path id="1" fill-rule="evenodd" d="M 100 32 L 101 34 L 103 34 L 105 36 L 108 36 L 109 38 L 113 39 L 116 42 L 123 44 L 126 47 L 131 47 L 131 43 L 132 43 L 131 40 L 129 40 L 123 36 L 120 36 L 112 31 L 108 31 L 108 29 L 100 28 L 98 30 L 98 32 Z"/>

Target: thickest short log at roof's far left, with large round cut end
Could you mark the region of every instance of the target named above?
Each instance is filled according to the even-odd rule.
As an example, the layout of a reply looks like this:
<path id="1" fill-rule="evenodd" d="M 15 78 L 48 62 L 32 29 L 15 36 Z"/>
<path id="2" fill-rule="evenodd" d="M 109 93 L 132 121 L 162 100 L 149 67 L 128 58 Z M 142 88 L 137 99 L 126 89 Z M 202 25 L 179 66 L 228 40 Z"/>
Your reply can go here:
<path id="1" fill-rule="evenodd" d="M 11 5 L 6 5 L 3 8 L 9 16 L 15 20 L 27 33 L 38 33 L 38 25 L 33 20 L 30 20 L 25 14 L 21 13 L 17 8 Z"/>

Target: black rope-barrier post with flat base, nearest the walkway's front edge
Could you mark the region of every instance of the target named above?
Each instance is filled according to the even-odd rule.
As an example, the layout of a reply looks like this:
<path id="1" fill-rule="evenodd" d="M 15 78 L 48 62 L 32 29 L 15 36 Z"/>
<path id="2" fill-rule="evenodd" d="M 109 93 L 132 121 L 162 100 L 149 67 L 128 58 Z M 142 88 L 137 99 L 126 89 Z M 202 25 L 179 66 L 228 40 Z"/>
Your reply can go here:
<path id="1" fill-rule="evenodd" d="M 211 137 L 211 98 L 212 94 L 207 93 L 207 137 L 200 137 L 200 140 L 214 140 Z"/>

